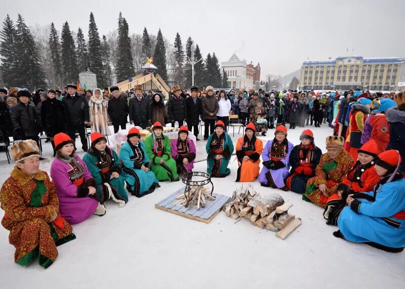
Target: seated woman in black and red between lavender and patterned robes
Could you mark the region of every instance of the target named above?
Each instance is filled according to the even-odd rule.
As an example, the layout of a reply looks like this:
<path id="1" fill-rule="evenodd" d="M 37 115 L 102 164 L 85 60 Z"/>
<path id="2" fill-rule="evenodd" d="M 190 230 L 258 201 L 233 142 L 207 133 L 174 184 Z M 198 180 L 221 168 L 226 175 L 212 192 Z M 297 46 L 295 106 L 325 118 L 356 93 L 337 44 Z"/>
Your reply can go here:
<path id="1" fill-rule="evenodd" d="M 302 194 L 309 178 L 315 176 L 322 151 L 315 146 L 311 130 L 304 130 L 300 136 L 301 143 L 296 145 L 290 154 L 291 171 L 287 179 L 290 191 Z"/>

